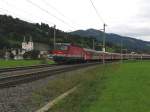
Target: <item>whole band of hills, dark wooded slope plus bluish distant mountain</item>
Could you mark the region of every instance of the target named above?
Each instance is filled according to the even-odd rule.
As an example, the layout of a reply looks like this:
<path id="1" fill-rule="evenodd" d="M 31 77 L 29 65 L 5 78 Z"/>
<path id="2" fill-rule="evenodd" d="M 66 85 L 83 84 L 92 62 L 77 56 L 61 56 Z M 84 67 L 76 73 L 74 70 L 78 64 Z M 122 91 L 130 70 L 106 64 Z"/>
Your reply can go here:
<path id="1" fill-rule="evenodd" d="M 0 15 L 0 49 L 20 48 L 23 37 L 29 39 L 32 36 L 34 42 L 41 42 L 53 48 L 53 27 L 45 23 L 29 23 L 18 18 L 7 15 Z M 87 38 L 88 37 L 88 38 Z M 56 30 L 56 42 L 68 42 L 82 47 L 92 48 L 93 39 L 95 40 L 96 50 L 102 48 L 103 33 L 89 29 L 66 33 L 59 29 Z M 129 51 L 149 52 L 150 43 L 123 37 L 116 34 L 106 34 L 107 51 L 120 52 L 120 43 L 123 40 L 123 48 Z"/>

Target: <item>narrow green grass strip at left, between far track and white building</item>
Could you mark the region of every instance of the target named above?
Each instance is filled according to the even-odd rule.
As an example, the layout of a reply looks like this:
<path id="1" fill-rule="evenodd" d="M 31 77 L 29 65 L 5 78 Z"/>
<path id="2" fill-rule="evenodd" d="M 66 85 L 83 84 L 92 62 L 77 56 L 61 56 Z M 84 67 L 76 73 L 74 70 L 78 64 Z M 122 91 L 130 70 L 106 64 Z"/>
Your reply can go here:
<path id="1" fill-rule="evenodd" d="M 0 68 L 17 67 L 17 66 L 31 66 L 42 64 L 41 60 L 0 60 Z M 51 64 L 52 62 L 48 62 Z"/>

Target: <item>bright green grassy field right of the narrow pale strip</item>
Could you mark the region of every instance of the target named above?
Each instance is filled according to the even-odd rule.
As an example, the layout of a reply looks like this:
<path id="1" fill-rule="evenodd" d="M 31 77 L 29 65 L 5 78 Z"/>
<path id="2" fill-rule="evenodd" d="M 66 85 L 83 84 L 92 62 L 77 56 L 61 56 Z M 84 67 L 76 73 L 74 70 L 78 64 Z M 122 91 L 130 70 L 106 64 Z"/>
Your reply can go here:
<path id="1" fill-rule="evenodd" d="M 97 66 L 85 75 L 49 112 L 150 112 L 150 62 Z"/>

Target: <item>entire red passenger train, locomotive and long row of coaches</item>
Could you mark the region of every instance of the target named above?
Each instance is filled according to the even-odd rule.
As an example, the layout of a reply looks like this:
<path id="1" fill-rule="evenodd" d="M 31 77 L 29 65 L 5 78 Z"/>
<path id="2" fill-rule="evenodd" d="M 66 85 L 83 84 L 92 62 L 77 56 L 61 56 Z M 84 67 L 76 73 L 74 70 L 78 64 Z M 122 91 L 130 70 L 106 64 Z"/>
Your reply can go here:
<path id="1" fill-rule="evenodd" d="M 56 49 L 49 52 L 53 60 L 57 63 L 80 63 L 103 60 L 127 60 L 127 59 L 150 59 L 150 54 L 121 54 L 96 51 L 93 49 L 82 48 L 69 43 L 57 43 Z"/>

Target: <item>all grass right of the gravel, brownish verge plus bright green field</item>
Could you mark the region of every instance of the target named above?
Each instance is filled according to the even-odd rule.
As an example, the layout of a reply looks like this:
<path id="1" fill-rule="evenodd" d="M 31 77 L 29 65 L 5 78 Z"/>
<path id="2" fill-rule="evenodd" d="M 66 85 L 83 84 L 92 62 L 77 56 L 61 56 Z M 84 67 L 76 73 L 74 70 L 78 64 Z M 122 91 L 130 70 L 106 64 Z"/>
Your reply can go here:
<path id="1" fill-rule="evenodd" d="M 132 61 L 58 75 L 45 88 L 32 94 L 27 108 L 40 108 L 80 84 L 49 112 L 148 112 L 149 67 L 150 62 Z"/>

